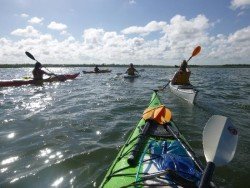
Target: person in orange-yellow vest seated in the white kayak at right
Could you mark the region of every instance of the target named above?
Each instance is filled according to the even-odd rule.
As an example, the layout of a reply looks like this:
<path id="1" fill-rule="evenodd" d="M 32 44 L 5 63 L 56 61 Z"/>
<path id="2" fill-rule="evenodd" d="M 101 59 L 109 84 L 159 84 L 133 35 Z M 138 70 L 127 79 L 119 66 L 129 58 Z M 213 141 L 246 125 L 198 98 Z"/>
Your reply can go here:
<path id="1" fill-rule="evenodd" d="M 187 61 L 183 60 L 180 69 L 175 73 L 171 83 L 173 85 L 189 85 L 191 71 L 187 68 Z"/>

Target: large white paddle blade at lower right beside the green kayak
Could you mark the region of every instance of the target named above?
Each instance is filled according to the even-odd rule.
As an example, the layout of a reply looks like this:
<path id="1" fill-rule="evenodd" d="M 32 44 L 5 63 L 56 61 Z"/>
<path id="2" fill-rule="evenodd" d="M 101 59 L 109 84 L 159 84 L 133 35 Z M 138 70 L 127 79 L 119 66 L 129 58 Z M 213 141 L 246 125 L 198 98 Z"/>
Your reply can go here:
<path id="1" fill-rule="evenodd" d="M 236 151 L 238 131 L 224 116 L 212 116 L 203 130 L 203 149 L 207 162 L 222 166 L 230 162 Z"/>

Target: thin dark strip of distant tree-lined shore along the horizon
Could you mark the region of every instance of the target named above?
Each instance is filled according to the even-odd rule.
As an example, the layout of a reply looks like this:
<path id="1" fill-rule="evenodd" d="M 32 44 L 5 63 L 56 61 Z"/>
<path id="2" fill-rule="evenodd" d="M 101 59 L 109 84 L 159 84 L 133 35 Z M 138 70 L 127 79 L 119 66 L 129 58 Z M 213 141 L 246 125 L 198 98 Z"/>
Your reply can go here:
<path id="1" fill-rule="evenodd" d="M 94 67 L 95 65 L 89 64 L 43 64 L 44 67 Z M 117 64 L 102 64 L 99 67 L 128 67 L 128 65 L 117 65 Z M 177 68 L 177 65 L 135 65 L 136 67 L 158 67 L 158 68 Z M 34 64 L 2 64 L 0 68 L 26 68 L 34 67 Z M 189 65 L 193 68 L 250 68 L 250 64 L 225 64 L 225 65 Z"/>

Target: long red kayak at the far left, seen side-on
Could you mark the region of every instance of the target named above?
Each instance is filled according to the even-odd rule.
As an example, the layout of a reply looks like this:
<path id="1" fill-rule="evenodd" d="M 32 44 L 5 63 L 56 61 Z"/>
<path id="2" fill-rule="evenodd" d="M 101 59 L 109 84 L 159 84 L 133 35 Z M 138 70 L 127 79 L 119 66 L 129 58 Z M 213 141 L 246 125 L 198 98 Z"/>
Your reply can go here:
<path id="1" fill-rule="evenodd" d="M 44 82 L 63 82 L 66 80 L 73 80 L 77 76 L 79 76 L 80 73 L 76 74 L 63 74 L 63 75 L 57 75 L 55 77 L 50 77 L 43 80 L 33 80 L 33 79 L 15 79 L 15 80 L 0 80 L 0 87 L 11 87 L 11 86 L 22 86 L 22 85 L 29 85 L 29 84 L 43 84 Z"/>

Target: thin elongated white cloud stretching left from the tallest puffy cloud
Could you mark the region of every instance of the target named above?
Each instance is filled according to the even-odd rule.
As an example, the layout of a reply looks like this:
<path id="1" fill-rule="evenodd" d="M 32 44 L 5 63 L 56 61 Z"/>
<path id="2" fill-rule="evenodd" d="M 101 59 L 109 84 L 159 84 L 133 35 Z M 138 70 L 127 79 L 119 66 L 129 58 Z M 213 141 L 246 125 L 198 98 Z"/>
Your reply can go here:
<path id="1" fill-rule="evenodd" d="M 132 26 L 122 30 L 121 32 L 123 34 L 140 34 L 145 36 L 150 34 L 151 32 L 163 30 L 165 26 L 166 22 L 151 21 L 144 27 Z"/>

